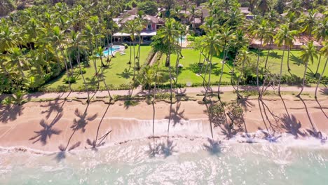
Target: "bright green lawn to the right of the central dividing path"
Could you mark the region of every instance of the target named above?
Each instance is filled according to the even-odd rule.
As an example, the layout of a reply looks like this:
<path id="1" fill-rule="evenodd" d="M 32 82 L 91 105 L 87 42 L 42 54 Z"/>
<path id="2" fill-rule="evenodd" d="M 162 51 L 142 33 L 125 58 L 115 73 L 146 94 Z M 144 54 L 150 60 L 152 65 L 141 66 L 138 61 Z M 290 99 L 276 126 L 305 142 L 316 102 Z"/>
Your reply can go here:
<path id="1" fill-rule="evenodd" d="M 179 62 L 183 65 L 182 71 L 179 74 L 179 81 L 178 83 L 186 84 L 188 82 L 191 83 L 201 83 L 203 82 L 203 78 L 200 76 L 197 76 L 197 70 L 195 70 L 195 65 L 198 63 L 199 60 L 199 51 L 198 50 L 192 50 L 192 49 L 183 49 L 182 55 L 184 58 L 182 58 Z M 260 57 L 260 65 L 264 67 L 266 55 L 268 51 L 264 50 L 261 52 Z M 268 57 L 268 67 L 269 69 L 275 73 L 280 73 L 280 62 L 282 57 L 282 50 L 271 50 L 271 54 Z M 253 62 L 257 62 L 257 53 L 251 53 L 251 58 Z M 289 56 L 289 66 L 292 69 L 290 71 L 291 74 L 294 74 L 296 76 L 299 76 L 303 78 L 303 72 L 304 72 L 304 65 L 301 64 L 301 60 L 299 60 L 299 56 L 301 55 L 301 51 L 299 50 L 292 50 L 290 52 Z M 211 81 L 219 81 L 219 75 L 221 73 L 221 60 L 223 56 L 220 57 L 213 57 L 212 62 L 212 74 L 211 74 Z M 177 55 L 171 56 L 172 66 L 175 65 L 175 62 L 177 60 Z M 324 67 L 324 62 L 326 58 L 322 57 L 322 60 L 320 62 L 320 67 L 318 73 L 322 72 L 322 69 Z M 161 62 L 164 65 L 165 64 L 165 56 L 161 58 Z M 201 57 L 201 62 L 203 62 L 203 56 Z M 308 65 L 308 75 L 313 75 L 315 70 L 317 69 L 317 62 L 318 60 L 315 60 L 315 62 L 309 63 Z M 232 66 L 228 65 L 228 63 L 224 66 L 224 75 L 222 77 L 222 82 L 230 82 L 230 71 L 232 70 Z M 284 57 L 284 63 L 282 68 L 282 74 L 290 75 L 287 70 L 287 51 L 285 51 L 285 57 Z M 324 76 L 328 76 L 328 70 L 325 71 Z"/>

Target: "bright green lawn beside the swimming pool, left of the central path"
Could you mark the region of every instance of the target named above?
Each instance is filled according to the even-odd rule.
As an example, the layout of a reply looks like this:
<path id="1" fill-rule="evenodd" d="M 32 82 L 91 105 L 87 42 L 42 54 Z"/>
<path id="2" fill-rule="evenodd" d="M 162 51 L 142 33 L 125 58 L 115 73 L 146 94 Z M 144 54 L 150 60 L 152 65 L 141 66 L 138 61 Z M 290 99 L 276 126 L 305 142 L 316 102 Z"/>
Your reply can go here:
<path id="1" fill-rule="evenodd" d="M 146 57 L 148 57 L 149 51 L 151 50 L 151 46 L 142 46 L 141 47 L 141 55 L 140 55 L 140 64 L 144 64 Z M 107 85 L 114 85 L 118 87 L 121 84 L 129 84 L 133 78 L 133 49 L 132 49 L 132 64 L 129 70 L 129 60 L 130 60 L 130 48 L 125 50 L 126 55 L 120 55 L 120 53 L 116 53 L 116 57 L 111 59 L 109 67 L 104 69 L 104 78 L 106 79 Z M 137 53 L 137 47 L 135 48 L 135 53 Z M 107 57 L 103 59 L 103 62 L 106 64 Z M 99 70 L 101 67 L 100 59 L 96 60 L 97 69 Z M 126 71 L 125 71 L 126 70 Z M 71 84 L 71 88 L 73 90 L 78 90 L 79 88 L 84 89 L 83 79 L 81 75 L 78 75 L 79 70 L 76 66 L 75 68 L 76 76 L 78 76 L 76 83 Z M 93 60 L 90 60 L 90 67 L 86 68 L 86 74 L 83 74 L 86 78 L 86 81 L 92 85 L 96 85 L 97 78 L 95 76 L 95 67 L 93 65 Z M 67 78 L 66 72 L 62 73 L 57 79 L 54 81 L 50 81 L 45 85 L 45 88 L 67 88 L 68 84 L 64 83 L 64 78 Z M 104 87 L 103 83 L 100 83 L 100 86 Z"/>

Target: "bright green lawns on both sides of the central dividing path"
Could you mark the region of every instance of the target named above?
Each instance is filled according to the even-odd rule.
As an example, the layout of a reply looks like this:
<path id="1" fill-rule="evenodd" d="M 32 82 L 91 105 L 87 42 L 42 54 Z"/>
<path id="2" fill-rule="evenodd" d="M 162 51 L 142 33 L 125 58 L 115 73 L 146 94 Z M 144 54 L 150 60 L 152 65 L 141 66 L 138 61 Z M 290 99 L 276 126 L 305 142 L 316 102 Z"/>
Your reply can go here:
<path id="1" fill-rule="evenodd" d="M 148 57 L 149 51 L 151 50 L 151 46 L 142 46 L 141 51 L 141 64 L 144 64 L 146 57 Z M 133 51 L 132 51 L 133 52 Z M 137 52 L 137 50 L 136 50 Z M 125 50 L 126 55 L 120 55 L 119 53 L 116 53 L 116 57 L 114 57 L 111 60 L 111 64 L 108 69 L 105 69 L 104 76 L 106 78 L 106 82 L 108 85 L 114 85 L 116 88 L 120 85 L 126 85 L 129 84 L 133 77 L 133 69 L 130 68 L 127 64 L 130 58 L 130 48 Z M 264 50 L 261 52 L 261 66 L 264 66 L 264 62 L 266 60 L 266 54 L 267 50 Z M 192 49 L 183 49 L 182 55 L 184 55 L 184 58 L 180 60 L 180 64 L 183 65 L 183 68 L 179 74 L 179 81 L 178 83 L 186 84 L 186 83 L 202 83 L 203 78 L 200 76 L 197 76 L 196 74 L 199 71 L 199 67 L 197 67 L 198 60 L 199 60 L 199 51 L 192 50 Z M 251 53 L 252 60 L 256 62 L 257 60 L 257 53 Z M 304 65 L 301 64 L 301 61 L 299 60 L 299 55 L 301 55 L 301 51 L 293 50 L 290 53 L 290 59 L 289 64 L 292 69 L 291 74 L 294 74 L 296 76 L 299 76 L 303 78 L 303 71 L 304 71 Z M 282 56 L 282 50 L 273 50 L 271 51 L 271 55 L 268 59 L 268 67 L 273 73 L 279 74 L 280 72 L 280 61 Z M 133 57 L 132 57 L 133 58 Z M 175 61 L 177 60 L 177 55 L 171 55 L 171 62 L 172 66 L 175 66 Z M 222 55 L 220 57 L 213 57 L 212 59 L 212 74 L 211 74 L 211 81 L 217 82 L 219 81 L 219 76 L 221 73 L 221 60 Z M 318 72 L 322 72 L 322 69 L 324 67 L 325 58 L 322 58 L 322 61 L 320 63 L 320 68 Z M 106 60 L 104 59 L 104 62 Z M 133 62 L 133 60 L 132 60 Z M 165 55 L 160 59 L 161 64 L 165 65 Z M 201 62 L 203 62 L 203 56 L 201 57 Z M 100 69 L 100 59 L 97 60 L 97 67 Z M 133 63 L 132 63 L 133 67 Z M 313 72 L 315 72 L 317 67 L 317 60 L 313 64 L 309 64 L 309 75 L 313 75 Z M 86 68 L 87 72 L 84 74 L 87 81 L 90 82 L 95 74 L 95 69 L 93 67 L 93 62 L 90 61 L 90 67 Z M 231 66 L 228 65 L 228 63 L 224 66 L 224 76 L 222 78 L 222 82 L 230 82 L 230 71 Z M 126 71 L 125 71 L 126 70 Z M 128 72 L 127 72 L 128 71 Z M 76 72 L 78 70 L 76 69 Z M 175 71 L 172 71 L 175 73 Z M 285 52 L 285 58 L 284 58 L 284 64 L 283 64 L 283 74 L 290 75 L 287 71 L 287 52 Z M 324 76 L 328 76 L 328 69 L 326 70 Z M 63 73 L 59 78 L 57 78 L 54 81 L 50 81 L 48 84 L 45 85 L 46 88 L 57 88 L 57 87 L 64 87 L 67 89 L 68 85 L 63 82 L 64 78 L 66 78 L 66 74 Z M 83 83 L 82 83 L 81 76 L 78 75 L 78 81 L 76 83 L 72 84 L 73 90 L 78 90 L 81 88 L 84 89 Z M 93 83 L 96 84 L 96 83 Z M 100 84 L 100 86 L 104 87 L 103 84 Z"/>

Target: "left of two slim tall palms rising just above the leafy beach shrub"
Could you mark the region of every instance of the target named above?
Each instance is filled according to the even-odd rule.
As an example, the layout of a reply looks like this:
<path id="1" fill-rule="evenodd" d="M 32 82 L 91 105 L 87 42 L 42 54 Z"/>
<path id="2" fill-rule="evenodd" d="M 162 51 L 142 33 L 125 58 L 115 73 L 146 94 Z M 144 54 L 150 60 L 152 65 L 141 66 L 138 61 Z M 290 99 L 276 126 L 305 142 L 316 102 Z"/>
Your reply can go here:
<path id="1" fill-rule="evenodd" d="M 211 83 L 211 74 L 212 74 L 212 57 L 213 55 L 218 55 L 220 53 L 220 38 L 219 34 L 215 30 L 210 30 L 210 32 L 207 32 L 205 36 L 205 50 L 207 51 L 208 55 L 210 56 L 210 60 L 208 63 L 210 64 L 210 69 L 209 69 L 209 75 L 208 75 L 208 81 L 207 81 L 207 87 L 205 90 L 205 95 L 203 98 L 203 101 L 205 102 L 207 99 L 207 93 L 208 90 L 210 89 L 210 83 Z M 219 92 L 218 92 L 219 93 Z"/>

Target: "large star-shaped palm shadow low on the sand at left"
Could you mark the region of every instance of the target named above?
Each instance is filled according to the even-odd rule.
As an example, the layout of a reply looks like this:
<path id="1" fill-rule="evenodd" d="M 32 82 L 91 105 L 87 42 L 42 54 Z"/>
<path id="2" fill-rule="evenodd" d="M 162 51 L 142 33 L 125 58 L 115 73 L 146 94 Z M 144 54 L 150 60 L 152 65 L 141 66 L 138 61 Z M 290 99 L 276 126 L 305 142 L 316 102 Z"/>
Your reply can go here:
<path id="1" fill-rule="evenodd" d="M 60 133 L 62 132 L 62 130 L 58 130 L 56 128 L 53 128 L 53 126 L 55 125 L 55 123 L 57 123 L 57 121 L 60 120 L 60 118 L 62 118 L 62 114 L 60 114 L 59 116 L 57 116 L 57 118 L 55 118 L 53 120 L 52 123 L 50 123 L 49 125 L 46 123 L 46 121 L 44 119 L 42 119 L 40 121 L 40 125 L 42 127 L 41 130 L 39 131 L 34 131 L 34 133 L 36 133 L 36 135 L 34 137 L 31 137 L 29 140 L 34 140 L 33 142 L 41 142 L 42 145 L 46 145 L 47 144 L 47 139 L 52 136 L 52 135 L 60 135 Z"/>

